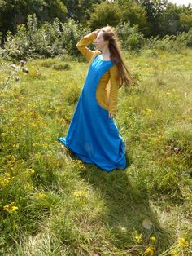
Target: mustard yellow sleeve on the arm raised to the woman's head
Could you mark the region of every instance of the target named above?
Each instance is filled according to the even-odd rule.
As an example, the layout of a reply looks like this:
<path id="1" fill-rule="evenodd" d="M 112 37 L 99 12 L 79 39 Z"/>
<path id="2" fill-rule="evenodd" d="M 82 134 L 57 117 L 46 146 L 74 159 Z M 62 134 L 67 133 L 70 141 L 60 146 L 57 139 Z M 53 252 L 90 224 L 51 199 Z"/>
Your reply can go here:
<path id="1" fill-rule="evenodd" d="M 88 46 L 95 38 L 97 38 L 97 35 L 95 32 L 92 32 L 87 34 L 84 38 L 81 38 L 81 40 L 76 44 L 78 50 L 81 51 L 82 55 L 84 55 L 88 61 L 91 60 L 95 51 L 91 51 L 86 46 Z"/>

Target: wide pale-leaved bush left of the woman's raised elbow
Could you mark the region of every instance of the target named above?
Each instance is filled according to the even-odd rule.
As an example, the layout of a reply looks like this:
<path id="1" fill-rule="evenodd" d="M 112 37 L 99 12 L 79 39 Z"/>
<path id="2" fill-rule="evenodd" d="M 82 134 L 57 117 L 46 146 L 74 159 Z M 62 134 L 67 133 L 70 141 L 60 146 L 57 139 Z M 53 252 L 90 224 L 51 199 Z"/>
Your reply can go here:
<path id="1" fill-rule="evenodd" d="M 58 19 L 55 19 L 52 24 L 46 22 L 41 28 L 37 28 L 36 15 L 28 15 L 27 26 L 19 25 L 15 37 L 7 33 L 3 55 L 25 60 L 55 57 L 66 52 L 69 55 L 77 55 L 79 51 L 76 48 L 76 42 L 85 30 L 74 20 L 68 20 L 62 24 Z"/>

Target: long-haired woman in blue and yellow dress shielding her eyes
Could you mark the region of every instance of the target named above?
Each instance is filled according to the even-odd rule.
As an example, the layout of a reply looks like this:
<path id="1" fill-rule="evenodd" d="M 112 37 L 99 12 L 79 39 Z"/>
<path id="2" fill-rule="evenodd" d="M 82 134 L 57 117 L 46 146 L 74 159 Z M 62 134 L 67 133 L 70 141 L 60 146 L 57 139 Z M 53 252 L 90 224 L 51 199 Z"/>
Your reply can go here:
<path id="1" fill-rule="evenodd" d="M 96 51 L 87 46 L 94 40 Z M 89 61 L 89 70 L 68 135 L 57 139 L 86 163 L 102 170 L 125 169 L 124 141 L 113 120 L 118 89 L 130 83 L 114 29 L 103 27 L 76 44 Z"/>

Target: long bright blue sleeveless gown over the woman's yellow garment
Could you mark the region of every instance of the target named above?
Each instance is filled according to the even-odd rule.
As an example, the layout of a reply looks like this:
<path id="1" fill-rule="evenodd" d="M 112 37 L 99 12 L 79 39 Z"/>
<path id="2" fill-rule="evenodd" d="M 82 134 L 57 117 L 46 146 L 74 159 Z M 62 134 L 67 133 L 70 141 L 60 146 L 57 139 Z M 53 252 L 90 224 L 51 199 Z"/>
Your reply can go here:
<path id="1" fill-rule="evenodd" d="M 125 146 L 113 118 L 98 104 L 96 90 L 103 74 L 114 63 L 97 55 L 89 65 L 68 134 L 57 140 L 86 163 L 102 170 L 125 169 Z"/>

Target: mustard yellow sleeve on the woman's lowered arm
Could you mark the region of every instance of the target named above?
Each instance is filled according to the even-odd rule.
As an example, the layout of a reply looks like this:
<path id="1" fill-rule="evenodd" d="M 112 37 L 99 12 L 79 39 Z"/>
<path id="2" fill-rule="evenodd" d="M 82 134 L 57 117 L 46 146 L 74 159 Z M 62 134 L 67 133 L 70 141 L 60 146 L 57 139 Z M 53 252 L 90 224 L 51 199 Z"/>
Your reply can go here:
<path id="1" fill-rule="evenodd" d="M 109 94 L 109 112 L 117 112 L 117 99 L 118 99 L 118 90 L 120 88 L 120 77 L 117 65 L 113 65 L 110 69 L 110 94 Z"/>

